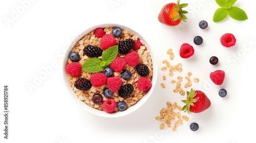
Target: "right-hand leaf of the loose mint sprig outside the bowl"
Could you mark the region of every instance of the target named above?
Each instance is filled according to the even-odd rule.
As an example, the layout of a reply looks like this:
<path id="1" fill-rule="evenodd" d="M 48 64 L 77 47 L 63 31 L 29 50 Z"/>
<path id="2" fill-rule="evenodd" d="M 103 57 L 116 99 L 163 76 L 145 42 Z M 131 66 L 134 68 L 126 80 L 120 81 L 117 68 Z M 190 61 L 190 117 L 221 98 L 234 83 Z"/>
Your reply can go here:
<path id="1" fill-rule="evenodd" d="M 248 19 L 245 11 L 238 8 L 238 7 L 231 7 L 230 9 L 228 9 L 228 14 L 229 14 L 230 17 L 232 17 L 236 20 L 246 20 L 246 19 Z"/>

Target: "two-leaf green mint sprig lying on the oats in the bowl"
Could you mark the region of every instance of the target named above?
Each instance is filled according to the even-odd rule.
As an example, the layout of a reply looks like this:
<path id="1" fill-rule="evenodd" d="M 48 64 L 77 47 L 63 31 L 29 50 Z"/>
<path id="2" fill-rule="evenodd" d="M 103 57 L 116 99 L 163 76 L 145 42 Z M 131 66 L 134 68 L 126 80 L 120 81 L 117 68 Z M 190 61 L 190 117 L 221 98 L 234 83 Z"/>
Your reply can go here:
<path id="1" fill-rule="evenodd" d="M 101 60 L 99 58 L 90 58 L 82 65 L 82 70 L 88 73 L 97 73 L 109 66 L 117 57 L 118 45 L 112 46 L 105 50 Z"/>

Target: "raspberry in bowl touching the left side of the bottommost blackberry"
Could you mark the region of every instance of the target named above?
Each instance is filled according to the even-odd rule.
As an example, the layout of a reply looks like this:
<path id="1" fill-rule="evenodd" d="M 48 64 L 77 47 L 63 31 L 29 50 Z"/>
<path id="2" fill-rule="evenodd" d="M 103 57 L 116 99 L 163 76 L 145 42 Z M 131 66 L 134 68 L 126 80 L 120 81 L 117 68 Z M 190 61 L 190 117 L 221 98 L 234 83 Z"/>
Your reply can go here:
<path id="1" fill-rule="evenodd" d="M 120 89 L 122 82 L 123 81 L 119 77 L 108 78 L 108 88 L 112 92 L 117 92 Z"/>

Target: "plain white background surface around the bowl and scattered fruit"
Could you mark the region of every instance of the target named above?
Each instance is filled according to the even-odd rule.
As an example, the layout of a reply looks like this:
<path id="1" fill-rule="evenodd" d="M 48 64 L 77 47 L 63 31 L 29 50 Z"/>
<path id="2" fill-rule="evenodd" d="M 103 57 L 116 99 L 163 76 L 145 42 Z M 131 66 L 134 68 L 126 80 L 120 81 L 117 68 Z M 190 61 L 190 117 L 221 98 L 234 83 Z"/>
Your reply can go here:
<path id="1" fill-rule="evenodd" d="M 3 138 L 4 116 L 0 116 L 0 142 L 253 142 L 255 135 L 255 1 L 238 0 L 235 6 L 246 11 L 249 19 L 237 21 L 228 17 L 214 23 L 213 14 L 219 6 L 215 1 L 182 0 L 188 3 L 189 22 L 179 27 L 168 27 L 157 19 L 161 8 L 172 1 L 31 1 L 26 8 L 21 1 L 1 1 L 1 86 L 10 87 L 9 139 Z M 112 5 L 111 5 L 112 4 Z M 23 11 L 24 10 L 24 11 Z M 10 23 L 14 11 L 18 15 Z M 209 28 L 198 27 L 200 20 L 208 21 Z M 101 23 L 119 23 L 140 33 L 155 51 L 159 75 L 150 99 L 138 110 L 119 118 L 103 118 L 79 107 L 69 96 L 62 83 L 62 58 L 65 49 L 76 35 Z M 233 33 L 237 38 L 234 47 L 226 49 L 220 37 Z M 193 43 L 195 36 L 204 38 L 203 45 Z M 195 55 L 181 59 L 179 47 L 187 42 L 194 46 Z M 172 48 L 174 61 L 183 64 L 182 73 L 169 77 L 160 68 L 166 51 Z M 246 51 L 244 49 L 246 49 Z M 209 64 L 211 56 L 219 57 L 216 66 Z M 29 90 L 35 77 L 51 66 L 52 73 L 36 88 Z M 222 86 L 214 85 L 209 73 L 225 68 L 226 78 Z M 172 130 L 160 131 L 160 122 L 155 120 L 165 103 L 177 102 L 185 97 L 173 93 L 170 84 L 178 75 L 186 76 L 191 71 L 194 89 L 203 90 L 211 101 L 211 107 L 198 114 L 188 115 L 189 121 Z M 166 75 L 167 80 L 162 81 Z M 182 84 L 184 86 L 185 79 Z M 164 83 L 167 88 L 162 89 Z M 218 91 L 226 88 L 228 96 L 220 98 Z M 3 89 L 3 87 L 1 88 Z M 188 89 L 186 89 L 188 90 Z M 0 98 L 1 109 L 3 96 Z M 182 113 L 184 114 L 184 113 Z M 197 122 L 200 129 L 192 132 L 189 125 Z M 172 129 L 172 128 L 171 128 Z M 254 133 L 253 133 L 254 132 Z M 154 138 L 154 139 L 151 139 Z"/>

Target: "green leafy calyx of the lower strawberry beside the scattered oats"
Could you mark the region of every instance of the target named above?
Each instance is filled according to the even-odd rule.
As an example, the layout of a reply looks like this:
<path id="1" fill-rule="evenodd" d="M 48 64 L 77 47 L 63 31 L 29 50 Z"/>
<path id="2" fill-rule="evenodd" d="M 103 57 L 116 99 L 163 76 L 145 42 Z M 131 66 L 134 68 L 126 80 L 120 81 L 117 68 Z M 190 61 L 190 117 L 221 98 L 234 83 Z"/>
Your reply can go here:
<path id="1" fill-rule="evenodd" d="M 183 106 L 182 110 L 184 112 L 188 112 L 189 114 L 191 113 L 190 106 L 194 106 L 194 103 L 197 102 L 197 99 L 194 99 L 196 97 L 197 93 L 195 90 L 191 89 L 190 92 L 187 91 L 187 99 L 182 100 L 186 105 Z"/>

